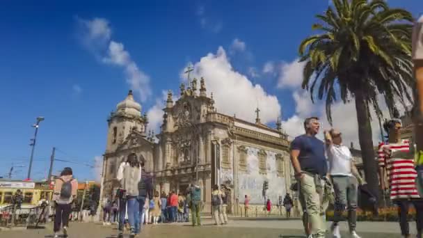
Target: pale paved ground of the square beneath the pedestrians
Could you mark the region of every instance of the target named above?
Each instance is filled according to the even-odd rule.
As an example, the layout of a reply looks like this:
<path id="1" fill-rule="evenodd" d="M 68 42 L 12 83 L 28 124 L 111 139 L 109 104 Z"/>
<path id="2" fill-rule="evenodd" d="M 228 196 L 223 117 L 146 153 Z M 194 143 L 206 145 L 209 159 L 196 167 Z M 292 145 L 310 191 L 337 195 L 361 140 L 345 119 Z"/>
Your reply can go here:
<path id="1" fill-rule="evenodd" d="M 201 227 L 191 227 L 189 223 L 147 225 L 141 237 L 183 237 L 183 238 L 290 238 L 304 237 L 301 221 L 280 219 L 234 219 L 229 225 L 215 226 L 211 219 L 204 219 Z M 329 223 L 328 223 L 329 225 Z M 411 229 L 414 228 L 412 225 Z M 342 225 L 342 235 L 347 236 L 346 225 Z M 358 233 L 362 238 L 397 238 L 398 223 L 360 222 Z M 103 226 L 98 223 L 71 223 L 69 238 L 115 238 L 115 225 Z M 0 238 L 52 238 L 51 224 L 40 230 L 0 231 Z M 129 237 L 125 235 L 125 238 Z M 330 237 L 327 235 L 326 237 Z"/>

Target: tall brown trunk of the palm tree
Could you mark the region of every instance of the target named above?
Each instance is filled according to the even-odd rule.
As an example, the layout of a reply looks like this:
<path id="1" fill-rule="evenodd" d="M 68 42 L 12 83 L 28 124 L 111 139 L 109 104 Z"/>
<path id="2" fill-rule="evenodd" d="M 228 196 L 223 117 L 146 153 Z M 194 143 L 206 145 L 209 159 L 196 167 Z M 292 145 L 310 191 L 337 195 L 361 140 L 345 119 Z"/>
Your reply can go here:
<path id="1" fill-rule="evenodd" d="M 356 111 L 358 122 L 358 139 L 360 141 L 362 163 L 365 170 L 365 180 L 370 191 L 379 198 L 380 189 L 378 187 L 378 168 L 376 164 L 376 153 L 373 148 L 372 125 L 368 114 L 368 105 L 362 90 L 355 93 Z"/>

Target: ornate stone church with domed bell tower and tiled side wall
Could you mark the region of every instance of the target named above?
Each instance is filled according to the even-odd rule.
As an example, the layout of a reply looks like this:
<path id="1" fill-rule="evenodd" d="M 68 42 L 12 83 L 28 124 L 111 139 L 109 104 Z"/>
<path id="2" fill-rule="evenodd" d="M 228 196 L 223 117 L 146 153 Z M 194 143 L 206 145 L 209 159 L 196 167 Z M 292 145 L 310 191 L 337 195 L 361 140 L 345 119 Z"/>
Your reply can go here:
<path id="1" fill-rule="evenodd" d="M 159 192 L 184 193 L 189 184 L 197 183 L 202 188 L 205 212 L 211 209 L 214 184 L 230 189 L 229 212 L 234 212 L 234 205 L 244 203 L 245 195 L 250 205 L 263 205 L 267 198 L 276 204 L 279 196 L 289 192 L 294 171 L 279 118 L 276 128 L 271 128 L 260 121 L 258 108 L 255 122 L 218 113 L 203 78 L 200 88 L 197 79 L 186 88 L 181 84 L 176 102 L 169 91 L 163 111 L 159 134 L 147 133 L 147 116 L 131 90 L 111 113 L 102 198 L 114 195 L 118 166 L 131 153 L 143 159 Z"/>

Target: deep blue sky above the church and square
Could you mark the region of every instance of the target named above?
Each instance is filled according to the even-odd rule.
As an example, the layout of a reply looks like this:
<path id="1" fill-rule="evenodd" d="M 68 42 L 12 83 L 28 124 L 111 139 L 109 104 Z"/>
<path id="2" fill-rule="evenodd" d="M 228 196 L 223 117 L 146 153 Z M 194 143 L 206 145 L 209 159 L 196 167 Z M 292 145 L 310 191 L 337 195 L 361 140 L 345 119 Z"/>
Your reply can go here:
<path id="1" fill-rule="evenodd" d="M 423 9 L 417 0 L 388 2 L 415 15 L 419 13 L 415 10 Z M 273 125 L 281 110 L 285 129 L 296 134 L 306 111 L 319 106 L 310 106 L 298 89 L 301 65 L 293 62 L 299 42 L 312 33 L 314 15 L 327 6 L 328 1 L 317 0 L 260 1 L 260 5 L 257 1 L 2 1 L 0 176 L 12 163 L 27 166 L 31 125 L 37 116 L 44 116 L 32 177 L 47 175 L 49 154 L 56 146 L 58 159 L 80 164 L 57 161 L 54 171 L 72 166 L 80 180 L 95 178 L 96 172 L 82 163 L 95 164 L 94 158 L 104 152 L 106 118 L 133 87 L 127 83 L 128 65 L 136 65 L 137 75 L 147 80 L 136 100 L 143 100 L 152 127 L 159 122 L 163 90 L 179 93 L 180 73 L 192 62 L 196 76 L 209 77 L 210 88 L 218 88 L 219 80 L 224 83 L 221 75 L 235 83 L 250 81 L 245 92 L 261 90 L 253 100 L 264 109 L 264 120 Z M 86 44 L 86 26 L 94 19 L 106 22 L 106 47 Z M 108 51 L 112 41 L 124 47 L 128 62 L 106 60 L 113 60 Z M 228 65 L 230 69 L 225 68 Z M 214 74 L 218 70 L 232 73 Z M 216 93 L 216 101 L 230 100 L 233 94 L 237 92 L 223 90 Z M 247 115 L 248 120 L 254 116 L 248 106 L 246 111 L 237 105 L 222 106 L 225 113 Z M 27 167 L 15 170 L 15 178 L 26 176 Z"/>

